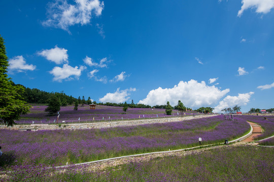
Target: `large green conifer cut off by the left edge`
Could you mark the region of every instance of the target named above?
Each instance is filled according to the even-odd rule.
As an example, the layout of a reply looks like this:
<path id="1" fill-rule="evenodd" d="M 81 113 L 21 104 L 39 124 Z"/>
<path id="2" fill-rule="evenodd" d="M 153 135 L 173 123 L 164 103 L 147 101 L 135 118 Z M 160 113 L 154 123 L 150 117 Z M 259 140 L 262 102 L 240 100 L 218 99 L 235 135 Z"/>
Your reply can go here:
<path id="1" fill-rule="evenodd" d="M 30 106 L 23 98 L 25 88 L 15 85 L 6 74 L 9 66 L 6 54 L 4 39 L 0 35 L 0 122 L 13 126 L 14 120 L 26 114 Z"/>

